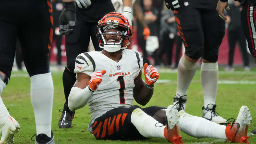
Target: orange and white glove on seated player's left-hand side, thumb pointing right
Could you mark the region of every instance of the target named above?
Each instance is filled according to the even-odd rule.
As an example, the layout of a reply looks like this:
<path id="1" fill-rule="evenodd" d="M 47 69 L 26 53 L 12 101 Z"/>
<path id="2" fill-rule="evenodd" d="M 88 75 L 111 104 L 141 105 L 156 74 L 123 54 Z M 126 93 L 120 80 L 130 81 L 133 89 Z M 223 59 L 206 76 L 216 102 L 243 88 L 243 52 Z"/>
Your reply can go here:
<path id="1" fill-rule="evenodd" d="M 89 82 L 89 87 L 91 90 L 95 91 L 98 85 L 101 83 L 102 75 L 106 73 L 106 70 L 95 71 L 92 73 L 91 80 Z"/>

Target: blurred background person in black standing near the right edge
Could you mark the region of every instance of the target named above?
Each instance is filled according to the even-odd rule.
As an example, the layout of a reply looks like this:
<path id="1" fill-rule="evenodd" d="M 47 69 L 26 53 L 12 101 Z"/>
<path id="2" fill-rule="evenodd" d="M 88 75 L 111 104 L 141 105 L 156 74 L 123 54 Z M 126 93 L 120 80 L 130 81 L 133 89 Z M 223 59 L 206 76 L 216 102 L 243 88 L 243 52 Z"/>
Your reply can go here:
<path id="1" fill-rule="evenodd" d="M 242 55 L 242 59 L 244 62 L 244 70 L 250 71 L 249 68 L 249 58 L 246 48 L 246 37 L 244 36 L 241 24 L 241 16 L 240 12 L 242 10 L 242 6 L 238 1 L 230 2 L 229 8 L 230 12 L 227 13 L 228 23 L 228 42 L 229 42 L 229 57 L 228 57 L 228 66 L 225 68 L 226 71 L 234 71 L 233 68 L 233 59 L 234 59 L 234 51 L 235 44 L 239 42 L 239 49 Z"/>

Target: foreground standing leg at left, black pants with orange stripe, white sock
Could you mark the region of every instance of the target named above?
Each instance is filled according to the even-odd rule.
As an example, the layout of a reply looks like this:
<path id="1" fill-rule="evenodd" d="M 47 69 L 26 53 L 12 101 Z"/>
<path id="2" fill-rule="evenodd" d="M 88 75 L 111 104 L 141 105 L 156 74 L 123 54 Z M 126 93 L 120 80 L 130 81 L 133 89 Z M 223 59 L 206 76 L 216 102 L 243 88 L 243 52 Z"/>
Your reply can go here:
<path id="1" fill-rule="evenodd" d="M 53 36 L 52 5 L 49 0 L 25 1 L 22 4 L 26 7 L 20 12 L 23 21 L 18 38 L 31 80 L 30 95 L 36 123 L 35 140 L 36 143 L 54 144 L 51 131 L 54 89 L 49 70 L 49 50 Z"/>

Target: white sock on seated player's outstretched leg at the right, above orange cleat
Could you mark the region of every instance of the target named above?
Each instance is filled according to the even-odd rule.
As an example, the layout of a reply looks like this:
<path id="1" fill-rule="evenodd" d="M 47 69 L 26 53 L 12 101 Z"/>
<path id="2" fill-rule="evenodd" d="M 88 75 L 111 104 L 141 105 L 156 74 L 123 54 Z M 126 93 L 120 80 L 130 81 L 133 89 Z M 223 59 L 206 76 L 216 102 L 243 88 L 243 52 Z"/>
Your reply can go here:
<path id="1" fill-rule="evenodd" d="M 182 110 L 179 113 L 181 116 L 178 126 L 182 132 L 195 138 L 226 139 L 225 126 L 192 116 Z"/>

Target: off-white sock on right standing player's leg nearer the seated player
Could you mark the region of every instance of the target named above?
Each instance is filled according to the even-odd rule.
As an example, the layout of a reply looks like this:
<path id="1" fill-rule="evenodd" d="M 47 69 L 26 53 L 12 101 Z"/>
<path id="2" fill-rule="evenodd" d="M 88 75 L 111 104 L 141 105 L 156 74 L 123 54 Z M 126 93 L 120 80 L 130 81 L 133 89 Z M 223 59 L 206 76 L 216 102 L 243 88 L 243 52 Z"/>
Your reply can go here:
<path id="1" fill-rule="evenodd" d="M 187 95 L 188 87 L 194 77 L 197 69 L 197 62 L 191 63 L 185 58 L 183 54 L 178 64 L 177 76 L 177 91 L 176 94 L 180 96 Z"/>

